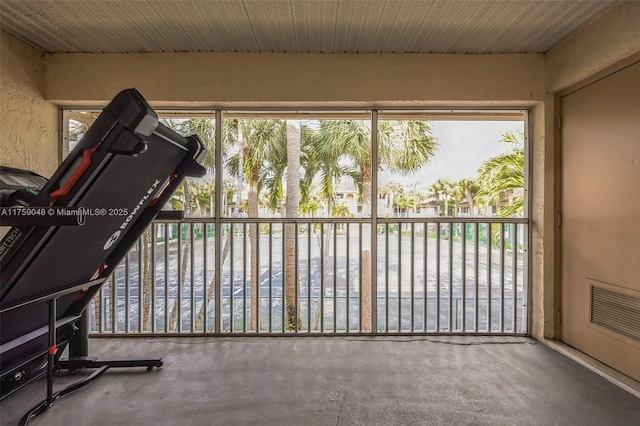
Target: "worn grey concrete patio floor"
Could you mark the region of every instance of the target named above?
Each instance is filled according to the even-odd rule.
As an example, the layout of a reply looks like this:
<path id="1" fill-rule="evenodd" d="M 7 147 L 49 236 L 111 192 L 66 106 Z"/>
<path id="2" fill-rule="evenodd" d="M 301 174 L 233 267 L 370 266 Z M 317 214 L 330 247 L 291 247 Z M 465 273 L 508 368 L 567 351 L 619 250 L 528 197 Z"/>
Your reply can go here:
<path id="1" fill-rule="evenodd" d="M 157 356 L 165 365 L 112 369 L 31 425 L 640 425 L 639 398 L 527 338 L 109 338 L 90 345 L 102 358 Z M 57 378 L 57 387 L 70 380 Z M 2 425 L 17 424 L 44 396 L 39 381 L 2 401 Z"/>

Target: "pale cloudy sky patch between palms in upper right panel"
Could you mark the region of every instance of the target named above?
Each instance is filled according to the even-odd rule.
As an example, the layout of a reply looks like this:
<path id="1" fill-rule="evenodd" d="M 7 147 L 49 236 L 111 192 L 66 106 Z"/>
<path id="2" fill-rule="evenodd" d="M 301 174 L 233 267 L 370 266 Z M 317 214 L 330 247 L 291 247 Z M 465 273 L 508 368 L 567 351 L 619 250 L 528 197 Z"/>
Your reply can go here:
<path id="1" fill-rule="evenodd" d="M 502 134 L 512 131 L 522 132 L 522 121 L 433 121 L 434 135 L 438 149 L 433 161 L 412 176 L 392 175 L 382 171 L 378 184 L 390 181 L 401 183 L 407 188 L 426 190 L 438 178 L 453 181 L 462 178 L 474 179 L 482 162 L 513 149 L 512 144 L 499 142 Z"/>

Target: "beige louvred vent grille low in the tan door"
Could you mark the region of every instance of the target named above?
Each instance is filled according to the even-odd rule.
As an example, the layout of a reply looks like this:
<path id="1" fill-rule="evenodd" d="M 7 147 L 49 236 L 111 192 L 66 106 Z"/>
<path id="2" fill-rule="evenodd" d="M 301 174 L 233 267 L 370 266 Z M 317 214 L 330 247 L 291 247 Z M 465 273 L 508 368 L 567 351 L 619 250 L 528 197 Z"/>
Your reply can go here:
<path id="1" fill-rule="evenodd" d="M 640 298 L 592 285 L 591 322 L 640 342 Z"/>

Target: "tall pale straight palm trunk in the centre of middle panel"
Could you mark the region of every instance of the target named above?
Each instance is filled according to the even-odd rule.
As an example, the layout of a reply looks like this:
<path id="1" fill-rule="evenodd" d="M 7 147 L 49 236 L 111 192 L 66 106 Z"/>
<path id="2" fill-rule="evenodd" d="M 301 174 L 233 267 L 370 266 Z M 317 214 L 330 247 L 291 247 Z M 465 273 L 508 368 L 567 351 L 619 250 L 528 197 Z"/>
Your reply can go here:
<path id="1" fill-rule="evenodd" d="M 286 217 L 297 218 L 300 201 L 300 122 L 287 120 L 287 195 Z M 295 223 L 284 225 L 284 277 L 285 277 L 285 306 L 286 329 L 302 329 L 302 320 L 298 307 L 299 300 L 296 297 L 297 265 L 296 265 L 296 227 Z M 296 325 L 297 322 L 297 325 Z"/>

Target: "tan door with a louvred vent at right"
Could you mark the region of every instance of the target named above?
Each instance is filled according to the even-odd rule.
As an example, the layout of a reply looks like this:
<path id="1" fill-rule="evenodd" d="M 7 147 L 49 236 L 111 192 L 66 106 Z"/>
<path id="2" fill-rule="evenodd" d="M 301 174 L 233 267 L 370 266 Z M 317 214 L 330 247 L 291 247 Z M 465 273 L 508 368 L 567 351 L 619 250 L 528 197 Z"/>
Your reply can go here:
<path id="1" fill-rule="evenodd" d="M 561 339 L 640 380 L 640 62 L 561 105 Z"/>

